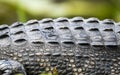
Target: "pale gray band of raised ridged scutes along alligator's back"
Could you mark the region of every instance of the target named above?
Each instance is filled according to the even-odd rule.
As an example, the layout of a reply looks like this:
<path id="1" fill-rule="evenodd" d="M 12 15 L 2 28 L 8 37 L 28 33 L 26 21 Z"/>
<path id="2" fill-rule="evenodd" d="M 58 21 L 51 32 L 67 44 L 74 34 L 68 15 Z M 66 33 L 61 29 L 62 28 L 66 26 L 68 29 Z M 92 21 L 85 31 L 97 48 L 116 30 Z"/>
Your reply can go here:
<path id="1" fill-rule="evenodd" d="M 0 46 L 30 44 L 91 44 L 119 45 L 120 24 L 113 20 L 99 21 L 97 18 L 82 17 L 46 18 L 27 23 L 16 22 L 11 26 L 0 26 Z"/>

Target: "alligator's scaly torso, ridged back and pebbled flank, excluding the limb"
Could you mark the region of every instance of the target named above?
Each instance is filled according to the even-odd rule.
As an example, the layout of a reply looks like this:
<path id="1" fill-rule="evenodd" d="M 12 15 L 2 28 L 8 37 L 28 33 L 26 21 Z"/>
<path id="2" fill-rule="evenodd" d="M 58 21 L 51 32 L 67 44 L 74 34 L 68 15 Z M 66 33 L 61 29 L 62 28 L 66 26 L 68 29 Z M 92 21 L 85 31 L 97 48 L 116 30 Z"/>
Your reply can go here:
<path id="1" fill-rule="evenodd" d="M 28 75 L 120 75 L 120 23 L 82 17 L 46 18 L 0 26 L 1 59 Z"/>

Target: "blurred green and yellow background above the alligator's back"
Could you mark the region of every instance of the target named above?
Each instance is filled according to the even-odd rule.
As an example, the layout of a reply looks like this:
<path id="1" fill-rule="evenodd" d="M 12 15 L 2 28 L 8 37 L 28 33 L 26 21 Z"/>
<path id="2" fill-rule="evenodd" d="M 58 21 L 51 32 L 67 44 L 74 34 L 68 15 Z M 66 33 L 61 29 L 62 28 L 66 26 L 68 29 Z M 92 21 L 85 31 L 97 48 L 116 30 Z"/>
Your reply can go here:
<path id="1" fill-rule="evenodd" d="M 0 0 L 0 24 L 82 16 L 120 21 L 120 0 Z"/>

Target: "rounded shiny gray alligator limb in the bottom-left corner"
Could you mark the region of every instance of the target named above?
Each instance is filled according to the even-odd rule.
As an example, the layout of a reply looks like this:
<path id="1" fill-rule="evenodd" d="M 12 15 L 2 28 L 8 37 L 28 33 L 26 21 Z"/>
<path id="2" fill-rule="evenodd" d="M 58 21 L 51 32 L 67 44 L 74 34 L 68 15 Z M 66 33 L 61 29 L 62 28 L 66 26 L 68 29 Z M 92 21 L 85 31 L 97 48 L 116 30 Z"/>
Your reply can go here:
<path id="1" fill-rule="evenodd" d="M 26 75 L 23 65 L 13 60 L 0 60 L 0 70 L 3 72 L 2 75 L 13 75 L 15 73 Z"/>

